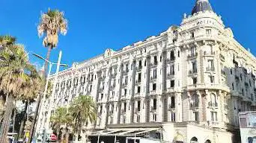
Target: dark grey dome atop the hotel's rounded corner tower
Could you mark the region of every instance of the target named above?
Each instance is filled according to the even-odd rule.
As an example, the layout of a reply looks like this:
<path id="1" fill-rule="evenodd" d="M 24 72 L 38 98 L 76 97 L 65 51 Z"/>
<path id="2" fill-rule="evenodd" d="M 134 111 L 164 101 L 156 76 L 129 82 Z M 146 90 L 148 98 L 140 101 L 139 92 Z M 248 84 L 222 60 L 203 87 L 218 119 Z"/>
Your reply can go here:
<path id="1" fill-rule="evenodd" d="M 213 11 L 213 8 L 208 0 L 197 0 L 195 2 L 195 6 L 192 10 L 192 15 L 200 11 Z"/>

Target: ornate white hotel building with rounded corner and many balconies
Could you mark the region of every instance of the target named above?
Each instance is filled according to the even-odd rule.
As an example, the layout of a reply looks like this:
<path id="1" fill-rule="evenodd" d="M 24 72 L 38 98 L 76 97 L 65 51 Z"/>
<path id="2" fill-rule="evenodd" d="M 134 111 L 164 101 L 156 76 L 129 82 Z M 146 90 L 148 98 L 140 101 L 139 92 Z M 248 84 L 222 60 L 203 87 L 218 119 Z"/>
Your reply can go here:
<path id="1" fill-rule="evenodd" d="M 49 105 L 94 97 L 91 136 L 156 130 L 165 142 L 239 142 L 238 112 L 256 110 L 255 71 L 255 56 L 208 0 L 197 0 L 179 26 L 61 71 Z"/>

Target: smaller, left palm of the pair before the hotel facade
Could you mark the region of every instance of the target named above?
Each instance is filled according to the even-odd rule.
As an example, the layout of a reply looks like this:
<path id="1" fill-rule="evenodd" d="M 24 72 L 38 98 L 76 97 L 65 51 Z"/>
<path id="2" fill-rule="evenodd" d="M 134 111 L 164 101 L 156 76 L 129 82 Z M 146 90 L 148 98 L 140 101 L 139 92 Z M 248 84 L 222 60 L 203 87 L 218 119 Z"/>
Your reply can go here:
<path id="1" fill-rule="evenodd" d="M 59 107 L 55 114 L 51 116 L 52 128 L 56 131 L 57 136 L 63 127 L 70 127 L 73 124 L 73 116 L 68 112 L 67 107 Z M 68 132 L 66 131 L 68 134 Z M 67 135 L 66 135 L 67 136 Z M 61 130 L 61 142 L 64 141 L 64 130 Z"/>

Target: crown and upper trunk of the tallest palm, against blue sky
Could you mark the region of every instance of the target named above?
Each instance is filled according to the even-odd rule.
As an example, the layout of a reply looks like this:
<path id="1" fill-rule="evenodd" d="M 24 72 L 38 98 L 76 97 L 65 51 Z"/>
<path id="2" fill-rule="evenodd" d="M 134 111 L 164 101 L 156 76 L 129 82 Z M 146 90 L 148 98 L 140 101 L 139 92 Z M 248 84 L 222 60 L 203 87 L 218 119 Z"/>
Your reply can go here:
<path id="1" fill-rule="evenodd" d="M 67 34 L 67 19 L 64 18 L 64 13 L 59 10 L 50 9 L 47 13 L 42 13 L 37 31 L 39 36 L 45 34 L 43 46 L 48 48 L 46 60 L 49 60 L 52 48 L 58 45 L 58 34 Z M 48 63 L 45 63 L 45 72 L 47 71 L 47 67 Z"/>

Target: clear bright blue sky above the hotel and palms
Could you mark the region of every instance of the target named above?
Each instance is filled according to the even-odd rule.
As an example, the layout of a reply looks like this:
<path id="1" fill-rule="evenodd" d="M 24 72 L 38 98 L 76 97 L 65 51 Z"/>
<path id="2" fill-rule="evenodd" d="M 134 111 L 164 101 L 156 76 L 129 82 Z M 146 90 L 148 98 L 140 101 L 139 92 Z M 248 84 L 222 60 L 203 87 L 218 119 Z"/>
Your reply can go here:
<path id="1" fill-rule="evenodd" d="M 210 0 L 213 10 L 245 48 L 256 54 L 256 1 Z M 69 22 L 66 36 L 60 36 L 51 60 L 70 66 L 102 54 L 106 48 L 118 50 L 133 42 L 158 35 L 171 25 L 180 25 L 183 13 L 191 13 L 195 0 L 0 0 L 0 35 L 16 36 L 29 53 L 46 56 L 37 36 L 40 13 L 48 7 L 64 11 Z M 32 56 L 31 62 L 43 61 Z"/>

